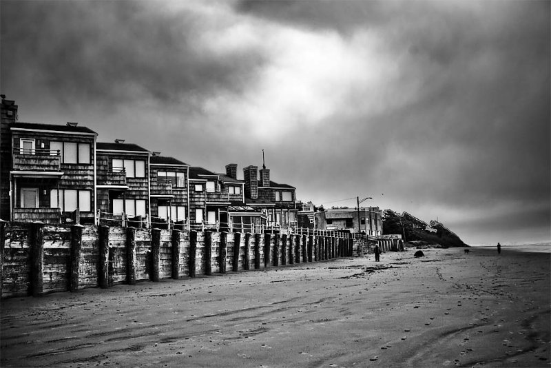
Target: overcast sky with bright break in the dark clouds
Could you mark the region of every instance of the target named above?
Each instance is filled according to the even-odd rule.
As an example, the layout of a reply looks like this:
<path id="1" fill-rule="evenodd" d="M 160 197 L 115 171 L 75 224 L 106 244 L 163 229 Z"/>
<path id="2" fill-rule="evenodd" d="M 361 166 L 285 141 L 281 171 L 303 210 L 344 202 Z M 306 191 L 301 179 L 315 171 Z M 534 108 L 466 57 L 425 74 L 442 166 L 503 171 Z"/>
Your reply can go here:
<path id="1" fill-rule="evenodd" d="M 0 1 L 19 121 L 551 241 L 550 1 Z"/>

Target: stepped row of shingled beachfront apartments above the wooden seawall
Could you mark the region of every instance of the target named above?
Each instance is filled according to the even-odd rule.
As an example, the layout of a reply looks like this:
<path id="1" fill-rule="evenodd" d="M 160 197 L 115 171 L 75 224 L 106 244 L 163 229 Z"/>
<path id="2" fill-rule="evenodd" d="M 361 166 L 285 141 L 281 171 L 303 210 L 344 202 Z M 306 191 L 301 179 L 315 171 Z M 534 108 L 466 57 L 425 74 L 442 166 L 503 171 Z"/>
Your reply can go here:
<path id="1" fill-rule="evenodd" d="M 265 166 L 226 173 L 98 134 L 78 123 L 20 123 L 2 99 L 0 218 L 136 227 L 248 231 L 296 227 L 295 187 L 270 180 Z M 170 225 L 168 225 L 170 224 Z"/>

